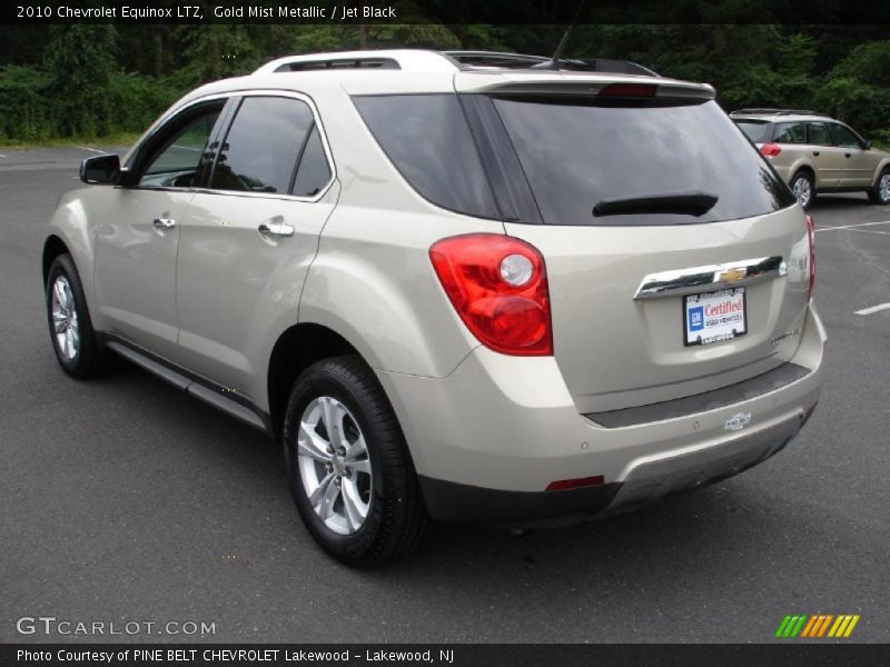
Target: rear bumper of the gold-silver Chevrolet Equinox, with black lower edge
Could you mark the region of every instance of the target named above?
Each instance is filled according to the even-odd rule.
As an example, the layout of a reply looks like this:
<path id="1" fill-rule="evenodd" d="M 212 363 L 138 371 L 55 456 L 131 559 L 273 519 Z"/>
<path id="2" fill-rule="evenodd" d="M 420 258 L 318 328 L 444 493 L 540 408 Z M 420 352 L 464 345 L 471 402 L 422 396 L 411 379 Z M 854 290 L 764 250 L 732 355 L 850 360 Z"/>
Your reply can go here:
<path id="1" fill-rule="evenodd" d="M 434 518 L 577 521 L 734 475 L 779 451 L 819 399 L 824 338 L 810 310 L 789 359 L 802 372 L 779 384 L 755 381 L 756 390 L 743 382 L 734 394 L 704 394 L 692 409 L 684 399 L 669 401 L 680 405 L 649 420 L 640 419 L 649 408 L 620 415 L 612 426 L 578 414 L 552 357 L 477 348 L 447 378 L 378 377 Z M 545 491 L 556 480 L 597 476 L 604 481 L 599 487 Z"/>

